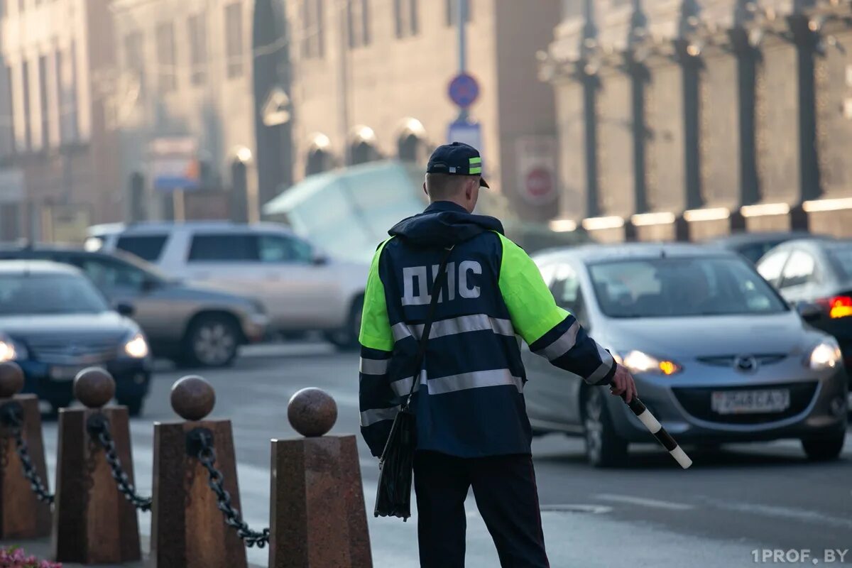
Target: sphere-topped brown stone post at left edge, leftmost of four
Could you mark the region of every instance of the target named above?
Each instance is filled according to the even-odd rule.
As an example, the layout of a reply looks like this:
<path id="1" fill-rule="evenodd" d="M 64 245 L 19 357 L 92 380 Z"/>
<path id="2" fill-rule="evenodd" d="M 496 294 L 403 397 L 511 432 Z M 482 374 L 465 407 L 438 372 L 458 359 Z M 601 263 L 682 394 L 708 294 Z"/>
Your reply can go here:
<path id="1" fill-rule="evenodd" d="M 20 420 L 21 436 L 27 445 L 33 467 L 48 485 L 44 465 L 42 416 L 34 394 L 19 394 L 24 387 L 24 373 L 18 364 L 0 363 L 0 415 Z M 9 413 L 9 415 L 7 415 Z M 50 505 L 39 501 L 24 477 L 20 458 L 15 451 L 11 424 L 0 422 L 0 540 L 37 538 L 50 534 Z"/>

